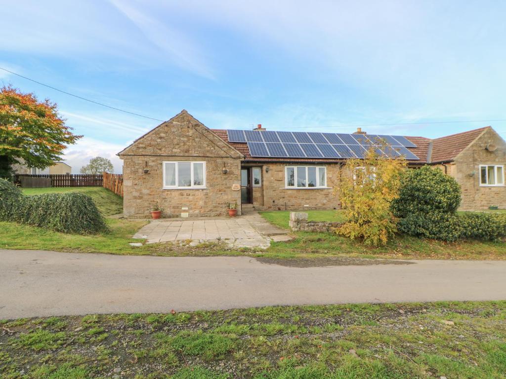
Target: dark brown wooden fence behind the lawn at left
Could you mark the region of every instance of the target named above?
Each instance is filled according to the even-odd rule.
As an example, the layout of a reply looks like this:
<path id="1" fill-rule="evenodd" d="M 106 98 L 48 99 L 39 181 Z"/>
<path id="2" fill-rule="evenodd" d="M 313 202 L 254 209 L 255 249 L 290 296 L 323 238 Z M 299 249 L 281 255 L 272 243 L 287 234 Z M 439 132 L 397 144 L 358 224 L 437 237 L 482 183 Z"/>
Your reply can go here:
<path id="1" fill-rule="evenodd" d="M 15 181 L 22 187 L 101 187 L 102 174 L 18 174 Z"/>

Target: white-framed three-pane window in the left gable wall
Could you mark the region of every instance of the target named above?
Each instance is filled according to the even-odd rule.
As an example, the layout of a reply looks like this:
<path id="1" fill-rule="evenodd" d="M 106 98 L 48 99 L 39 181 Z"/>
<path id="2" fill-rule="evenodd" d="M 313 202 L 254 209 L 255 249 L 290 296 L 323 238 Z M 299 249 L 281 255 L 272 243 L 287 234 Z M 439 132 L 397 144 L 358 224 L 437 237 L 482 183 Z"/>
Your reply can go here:
<path id="1" fill-rule="evenodd" d="M 205 188 L 205 162 L 163 162 L 163 188 Z"/>

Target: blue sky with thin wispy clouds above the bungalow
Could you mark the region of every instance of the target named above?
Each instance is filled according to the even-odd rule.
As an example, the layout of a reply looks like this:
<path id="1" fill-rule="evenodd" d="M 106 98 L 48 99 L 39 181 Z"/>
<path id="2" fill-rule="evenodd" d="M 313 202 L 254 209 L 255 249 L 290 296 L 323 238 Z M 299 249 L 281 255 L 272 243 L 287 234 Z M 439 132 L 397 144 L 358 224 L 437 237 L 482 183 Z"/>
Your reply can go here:
<path id="1" fill-rule="evenodd" d="M 19 1 L 2 7 L 0 67 L 112 107 L 210 128 L 353 132 L 355 125 L 506 119 L 502 1 Z M 58 103 L 85 137 L 73 172 L 159 122 L 0 70 Z M 438 137 L 506 122 L 367 126 Z"/>

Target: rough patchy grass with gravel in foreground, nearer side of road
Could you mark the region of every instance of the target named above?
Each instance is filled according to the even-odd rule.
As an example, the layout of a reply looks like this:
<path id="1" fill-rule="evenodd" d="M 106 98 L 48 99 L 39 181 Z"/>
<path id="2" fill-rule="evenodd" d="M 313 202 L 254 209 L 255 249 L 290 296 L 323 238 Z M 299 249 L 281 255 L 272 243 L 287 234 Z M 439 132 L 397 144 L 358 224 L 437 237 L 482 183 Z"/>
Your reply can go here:
<path id="1" fill-rule="evenodd" d="M 0 376 L 499 379 L 505 320 L 504 301 L 4 320 Z"/>

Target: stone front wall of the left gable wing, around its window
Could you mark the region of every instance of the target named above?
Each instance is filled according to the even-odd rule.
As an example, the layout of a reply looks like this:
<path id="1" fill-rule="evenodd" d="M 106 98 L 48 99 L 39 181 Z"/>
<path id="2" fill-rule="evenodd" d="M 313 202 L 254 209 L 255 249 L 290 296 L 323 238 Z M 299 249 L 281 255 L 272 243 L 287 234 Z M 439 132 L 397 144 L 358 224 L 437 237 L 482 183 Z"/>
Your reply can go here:
<path id="1" fill-rule="evenodd" d="M 123 160 L 126 216 L 150 217 L 155 202 L 164 209 L 162 217 L 180 217 L 182 213 L 221 216 L 226 214 L 228 202 L 240 204 L 240 191 L 232 186 L 240 184 L 242 155 L 186 111 L 118 155 Z M 205 161 L 206 188 L 163 189 L 163 161 Z M 223 168 L 228 170 L 226 174 Z"/>

